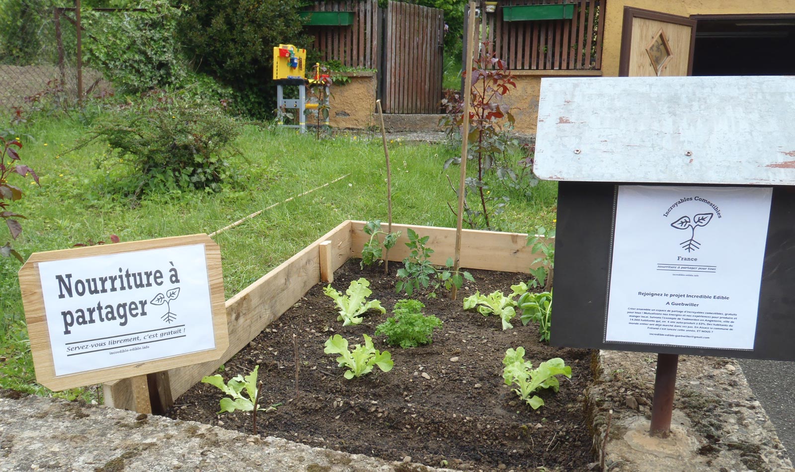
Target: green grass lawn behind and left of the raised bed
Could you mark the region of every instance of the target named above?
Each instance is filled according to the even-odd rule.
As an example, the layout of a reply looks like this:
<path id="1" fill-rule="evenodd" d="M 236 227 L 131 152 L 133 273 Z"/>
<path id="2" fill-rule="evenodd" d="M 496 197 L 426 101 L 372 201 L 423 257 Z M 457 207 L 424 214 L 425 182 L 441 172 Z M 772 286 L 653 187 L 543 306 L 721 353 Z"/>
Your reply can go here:
<path id="1" fill-rule="evenodd" d="M 96 164 L 109 152 L 106 144 L 95 142 L 64 154 L 87 133 L 79 121 L 51 119 L 17 131 L 24 145 L 21 162 L 41 177 L 38 187 L 11 176 L 11 183 L 25 191 L 24 198 L 10 206 L 28 218 L 21 220 L 21 237 L 13 243 L 24 257 L 76 243 L 108 241 L 111 234 L 118 234 L 122 242 L 209 234 L 347 175 L 215 236 L 229 298 L 345 219 L 386 220 L 386 165 L 378 133 L 337 133 L 333 139 L 316 141 L 312 134 L 246 125 L 235 142 L 241 155 L 230 161 L 237 178 L 223 192 L 171 192 L 134 200 L 118 193 L 117 183 L 130 172 L 124 161 Z M 456 226 L 447 205 L 456 207 L 456 195 L 445 175 L 457 181 L 459 168 L 443 169 L 444 161 L 456 153 L 460 149 L 447 145 L 390 142 L 394 222 Z M 493 229 L 532 232 L 537 226 L 553 226 L 556 184 L 542 182 L 531 195 L 503 188 L 496 181 L 490 185 L 491 196 L 510 196 L 505 211 L 492 217 Z M 476 208 L 475 195 L 470 199 Z M 0 234 L 5 238 L 0 239 L 2 246 L 10 236 L 6 230 Z M 13 257 L 0 257 L 0 387 L 48 395 L 52 393 L 35 382 L 19 267 Z M 93 393 L 75 389 L 56 395 L 90 398 Z"/>

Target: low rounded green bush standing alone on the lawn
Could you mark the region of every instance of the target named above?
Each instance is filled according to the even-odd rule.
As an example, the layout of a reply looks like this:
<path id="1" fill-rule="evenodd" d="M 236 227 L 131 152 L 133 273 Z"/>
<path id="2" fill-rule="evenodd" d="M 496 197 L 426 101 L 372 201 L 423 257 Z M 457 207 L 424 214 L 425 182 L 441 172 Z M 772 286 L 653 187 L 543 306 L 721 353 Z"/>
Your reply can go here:
<path id="1" fill-rule="evenodd" d="M 107 141 L 112 152 L 99 164 L 130 165 L 134 195 L 161 188 L 217 192 L 232 175 L 227 157 L 238 134 L 238 123 L 221 108 L 156 90 L 100 119 L 79 147 Z"/>

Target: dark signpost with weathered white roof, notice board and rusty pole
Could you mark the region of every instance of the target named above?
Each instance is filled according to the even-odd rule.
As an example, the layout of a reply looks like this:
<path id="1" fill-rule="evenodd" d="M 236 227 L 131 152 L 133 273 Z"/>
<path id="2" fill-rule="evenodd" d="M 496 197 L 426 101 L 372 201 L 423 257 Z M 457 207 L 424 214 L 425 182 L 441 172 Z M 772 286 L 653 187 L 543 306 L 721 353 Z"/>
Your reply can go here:
<path id="1" fill-rule="evenodd" d="M 543 79 L 533 172 L 558 180 L 555 346 L 795 360 L 795 81 Z"/>

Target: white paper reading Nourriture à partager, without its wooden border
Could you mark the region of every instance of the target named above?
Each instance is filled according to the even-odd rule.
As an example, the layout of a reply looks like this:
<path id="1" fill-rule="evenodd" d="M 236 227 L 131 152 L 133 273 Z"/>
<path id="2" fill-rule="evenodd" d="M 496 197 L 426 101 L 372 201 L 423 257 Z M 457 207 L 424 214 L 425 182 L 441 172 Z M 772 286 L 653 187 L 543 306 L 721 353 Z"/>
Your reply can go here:
<path id="1" fill-rule="evenodd" d="M 56 376 L 215 348 L 204 245 L 39 264 Z"/>

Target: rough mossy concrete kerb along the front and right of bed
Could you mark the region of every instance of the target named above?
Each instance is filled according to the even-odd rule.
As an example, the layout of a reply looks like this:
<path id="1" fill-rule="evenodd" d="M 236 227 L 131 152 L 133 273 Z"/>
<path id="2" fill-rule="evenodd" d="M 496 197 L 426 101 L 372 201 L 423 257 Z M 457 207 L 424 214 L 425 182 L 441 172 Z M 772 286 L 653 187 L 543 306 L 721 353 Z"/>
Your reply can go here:
<path id="1" fill-rule="evenodd" d="M 646 431 L 653 361 L 653 354 L 600 351 L 595 356 L 598 376 L 586 392 L 586 403 L 594 446 L 600 454 L 604 452 L 606 470 L 793 470 L 742 369 L 728 359 L 682 357 L 673 435 L 650 439 Z M 606 435 L 608 416 L 611 427 Z M 45 468 L 146 472 L 447 470 L 0 391 L 0 471 Z M 599 462 L 591 464 L 591 470 L 599 470 Z"/>

